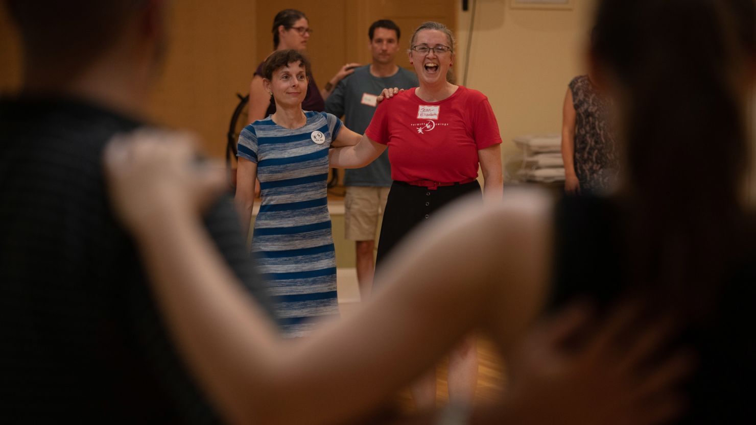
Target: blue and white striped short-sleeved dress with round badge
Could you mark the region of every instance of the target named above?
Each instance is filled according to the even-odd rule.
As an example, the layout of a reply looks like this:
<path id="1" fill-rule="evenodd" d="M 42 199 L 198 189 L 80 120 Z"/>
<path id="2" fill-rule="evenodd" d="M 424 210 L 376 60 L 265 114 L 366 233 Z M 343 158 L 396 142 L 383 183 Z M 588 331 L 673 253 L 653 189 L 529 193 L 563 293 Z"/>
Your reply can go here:
<path id="1" fill-rule="evenodd" d="M 313 319 L 339 314 L 326 184 L 328 149 L 342 123 L 326 112 L 305 116 L 296 129 L 271 117 L 253 122 L 237 145 L 240 157 L 257 163 L 262 203 L 252 252 L 287 337 L 305 336 Z"/>

